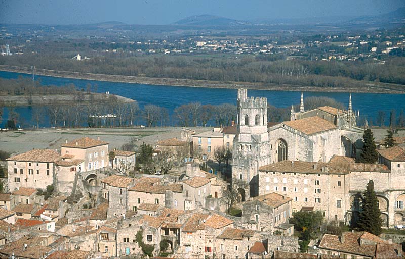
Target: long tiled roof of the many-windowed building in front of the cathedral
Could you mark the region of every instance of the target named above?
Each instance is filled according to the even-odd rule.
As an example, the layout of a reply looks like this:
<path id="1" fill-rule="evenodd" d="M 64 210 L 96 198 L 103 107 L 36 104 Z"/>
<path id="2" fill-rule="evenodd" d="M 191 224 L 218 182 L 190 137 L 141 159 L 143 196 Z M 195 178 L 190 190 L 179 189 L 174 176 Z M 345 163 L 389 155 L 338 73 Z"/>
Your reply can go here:
<path id="1" fill-rule="evenodd" d="M 259 171 L 306 174 L 348 174 L 350 172 L 390 172 L 383 164 L 348 164 L 304 161 L 281 161 L 262 166 Z"/>

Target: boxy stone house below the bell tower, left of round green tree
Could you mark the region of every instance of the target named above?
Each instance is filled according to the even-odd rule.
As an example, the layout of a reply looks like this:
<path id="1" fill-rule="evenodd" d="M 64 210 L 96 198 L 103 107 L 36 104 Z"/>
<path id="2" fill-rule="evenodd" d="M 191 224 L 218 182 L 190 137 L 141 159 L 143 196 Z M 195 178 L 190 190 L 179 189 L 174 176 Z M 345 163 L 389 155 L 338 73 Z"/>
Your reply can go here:
<path id="1" fill-rule="evenodd" d="M 292 213 L 292 198 L 275 192 L 254 197 L 242 205 L 242 224 L 262 232 L 274 233 L 278 230 L 275 227 L 288 223 Z M 289 231 L 287 234 L 292 235 L 292 226 Z"/>

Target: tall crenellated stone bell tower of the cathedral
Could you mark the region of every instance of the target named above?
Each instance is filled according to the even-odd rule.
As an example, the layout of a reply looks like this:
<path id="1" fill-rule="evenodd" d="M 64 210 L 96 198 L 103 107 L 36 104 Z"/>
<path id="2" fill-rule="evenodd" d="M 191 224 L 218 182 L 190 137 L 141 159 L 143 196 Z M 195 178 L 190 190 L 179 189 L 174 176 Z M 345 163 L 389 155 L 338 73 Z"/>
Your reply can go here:
<path id="1" fill-rule="evenodd" d="M 232 181 L 243 180 L 249 183 L 250 196 L 257 196 L 259 167 L 270 162 L 267 98 L 249 98 L 247 89 L 238 89 L 236 128 Z"/>

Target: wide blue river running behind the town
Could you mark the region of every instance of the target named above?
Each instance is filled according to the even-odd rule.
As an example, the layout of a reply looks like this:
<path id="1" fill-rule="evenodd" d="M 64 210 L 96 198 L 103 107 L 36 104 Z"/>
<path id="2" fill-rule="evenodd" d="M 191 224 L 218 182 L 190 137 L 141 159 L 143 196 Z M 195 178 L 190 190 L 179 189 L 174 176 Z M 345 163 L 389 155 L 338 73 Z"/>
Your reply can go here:
<path id="1" fill-rule="evenodd" d="M 0 77 L 2 78 L 13 79 L 19 76 L 31 77 L 29 74 L 0 71 Z M 236 89 L 131 84 L 50 76 L 35 76 L 35 78 L 39 78 L 43 85 L 62 86 L 74 84 L 79 89 L 86 89 L 86 85 L 89 83 L 92 86 L 97 84 L 98 92 L 109 91 L 111 94 L 137 100 L 141 109 L 147 104 L 165 107 L 168 109 L 169 114 L 172 114 L 176 107 L 194 101 L 199 101 L 203 105 L 218 105 L 220 103 L 233 103 L 236 105 Z M 268 103 L 275 107 L 291 107 L 292 104 L 300 101 L 300 92 L 295 91 L 249 90 L 248 95 L 267 97 Z M 304 98 L 309 96 L 334 98 L 344 103 L 346 109 L 349 101 L 349 94 L 341 92 L 304 92 Z M 352 103 L 353 110 L 360 111 L 360 115 L 367 116 L 373 122 L 376 121 L 378 111 L 384 111 L 386 114 L 385 121 L 388 124 L 391 110 L 396 111 L 396 118 L 398 118 L 401 109 L 405 110 L 405 94 L 353 93 Z M 19 123 L 21 126 L 32 127 L 35 124 L 31 122 L 31 111 L 30 107 L 16 108 L 16 112 L 20 114 Z M 3 124 L 7 118 L 8 110 L 5 109 Z"/>

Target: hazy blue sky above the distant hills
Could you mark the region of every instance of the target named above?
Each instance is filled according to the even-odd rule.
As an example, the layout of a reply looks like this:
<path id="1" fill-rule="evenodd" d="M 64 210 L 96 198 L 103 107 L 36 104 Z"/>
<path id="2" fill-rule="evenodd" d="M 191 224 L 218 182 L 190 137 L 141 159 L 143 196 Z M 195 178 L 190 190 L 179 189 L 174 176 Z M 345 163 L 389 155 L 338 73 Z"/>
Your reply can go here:
<path id="1" fill-rule="evenodd" d="M 170 24 L 191 15 L 237 20 L 377 15 L 404 0 L 0 0 L 0 23 Z"/>

